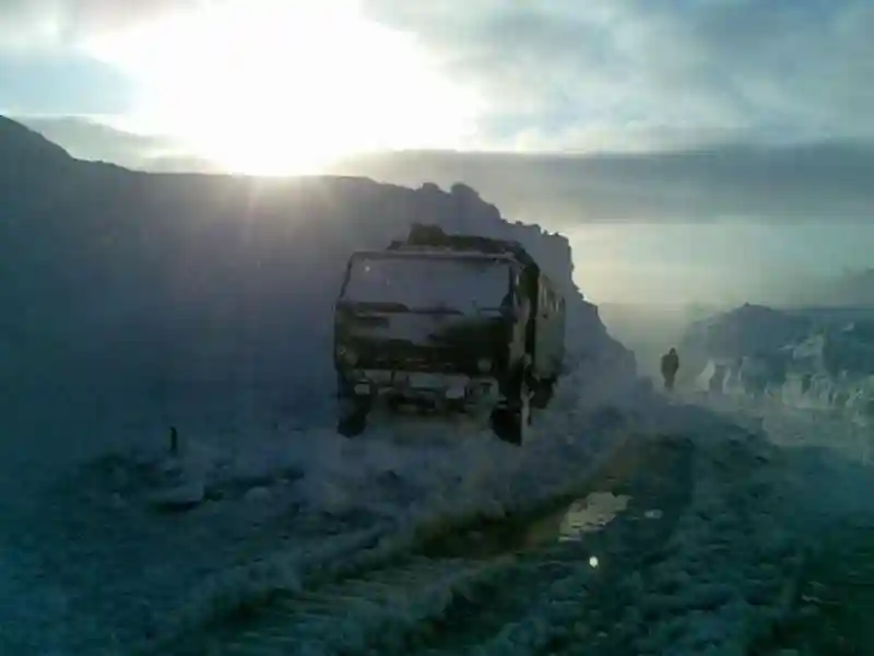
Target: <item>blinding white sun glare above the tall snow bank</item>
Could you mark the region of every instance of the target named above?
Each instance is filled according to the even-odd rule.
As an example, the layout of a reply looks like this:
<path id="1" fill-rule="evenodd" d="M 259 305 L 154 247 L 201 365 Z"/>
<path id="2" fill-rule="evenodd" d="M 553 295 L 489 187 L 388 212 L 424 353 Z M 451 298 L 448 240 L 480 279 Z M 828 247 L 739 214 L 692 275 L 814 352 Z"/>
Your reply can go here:
<path id="1" fill-rule="evenodd" d="M 85 48 L 133 81 L 134 122 L 234 173 L 319 173 L 364 151 L 462 148 L 480 110 L 414 37 L 363 17 L 354 0 L 237 0 Z"/>

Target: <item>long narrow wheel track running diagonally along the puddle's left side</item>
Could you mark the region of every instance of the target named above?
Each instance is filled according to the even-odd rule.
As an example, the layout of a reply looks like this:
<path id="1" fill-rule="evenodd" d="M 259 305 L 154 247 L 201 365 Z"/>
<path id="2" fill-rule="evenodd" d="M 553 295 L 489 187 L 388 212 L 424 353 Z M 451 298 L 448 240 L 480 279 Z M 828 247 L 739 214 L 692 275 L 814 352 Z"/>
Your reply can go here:
<path id="1" fill-rule="evenodd" d="M 623 448 L 631 450 L 629 445 L 633 442 L 635 440 L 629 440 L 626 435 L 625 440 L 611 440 L 613 448 L 586 449 L 590 452 L 591 456 L 588 460 L 581 459 L 586 465 L 580 478 L 586 481 L 592 480 L 593 476 L 604 470 L 606 462 L 621 459 L 617 456 Z M 598 447 L 603 443 L 603 440 L 595 441 L 592 446 Z M 541 488 L 542 472 L 539 472 L 539 476 L 533 479 L 528 476 L 530 472 L 519 473 L 523 476 L 518 482 L 538 484 L 541 497 L 524 500 L 520 506 L 519 500 L 511 495 L 509 502 L 516 504 L 511 507 L 517 508 L 513 517 L 536 516 L 559 506 L 564 507 L 581 491 L 579 483 L 571 484 L 571 489 L 568 490 L 568 480 L 565 477 L 557 479 L 558 484 L 553 485 L 552 490 L 544 491 Z M 509 473 L 505 472 L 505 479 Z M 507 512 L 508 507 L 505 501 L 503 507 L 500 503 L 495 507 L 493 507 L 494 504 L 487 504 L 488 507 L 485 508 L 482 504 L 474 504 L 465 509 L 466 506 L 460 497 L 457 500 L 461 502 L 460 506 L 456 505 L 456 502 L 447 505 L 444 496 L 439 496 L 438 500 L 440 506 L 446 506 L 442 512 L 435 513 L 436 508 L 428 509 L 426 507 L 424 514 L 420 508 L 408 516 L 401 515 L 391 520 L 383 518 L 381 522 L 368 523 L 369 528 L 362 526 L 352 532 L 336 534 L 323 530 L 320 536 L 307 536 L 303 544 L 299 542 L 296 544 L 283 543 L 282 540 L 271 544 L 270 541 L 265 543 L 259 539 L 256 542 L 261 544 L 261 549 L 256 552 L 250 549 L 251 540 L 237 544 L 235 551 L 238 554 L 243 550 L 250 555 L 238 558 L 233 567 L 211 574 L 194 586 L 189 586 L 189 593 L 184 598 L 177 599 L 175 604 L 163 605 L 161 616 L 152 622 L 154 628 L 145 634 L 144 639 L 141 634 L 140 642 L 144 640 L 145 644 L 137 652 L 161 652 L 160 645 L 172 644 L 176 636 L 182 636 L 192 631 L 197 632 L 200 626 L 221 621 L 222 618 L 233 618 L 239 612 L 251 613 L 253 608 L 271 604 L 277 595 L 293 594 L 300 589 L 315 589 L 334 581 L 391 566 L 392 563 L 402 562 L 416 547 L 439 543 L 440 536 L 466 535 L 473 532 L 472 529 L 482 524 L 494 524 L 492 519 L 484 519 L 483 514 L 491 517 L 496 508 Z M 452 499 L 450 497 L 449 501 Z M 461 508 L 460 513 L 458 512 L 459 507 Z M 303 528 L 299 524 L 306 517 L 307 515 L 298 516 L 291 524 L 281 520 L 282 530 L 277 532 L 276 527 L 273 527 L 261 537 L 285 536 L 290 530 L 292 534 L 298 532 L 297 529 Z M 314 516 L 310 519 L 315 519 L 317 526 L 322 524 L 318 517 Z M 332 520 L 332 526 L 335 526 L 336 519 L 339 518 L 335 517 Z M 322 526 L 322 529 L 324 528 Z M 314 546 L 315 550 L 311 549 Z"/>

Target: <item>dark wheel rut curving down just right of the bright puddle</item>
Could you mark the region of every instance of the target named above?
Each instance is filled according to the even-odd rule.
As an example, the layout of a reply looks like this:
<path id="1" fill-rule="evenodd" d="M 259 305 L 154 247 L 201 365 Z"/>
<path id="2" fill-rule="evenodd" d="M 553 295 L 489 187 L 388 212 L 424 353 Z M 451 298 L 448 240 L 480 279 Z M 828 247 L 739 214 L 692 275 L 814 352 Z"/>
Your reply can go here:
<path id="1" fill-rule="evenodd" d="M 693 452 L 689 442 L 666 438 L 645 442 L 634 454 L 618 458 L 594 481 L 593 490 L 630 495 L 625 512 L 605 530 L 580 541 L 530 552 L 527 566 L 513 579 L 503 581 L 477 604 L 453 609 L 445 618 L 450 630 L 438 633 L 422 654 L 497 655 L 511 648 L 557 654 L 578 647 L 580 633 L 606 635 L 622 614 L 617 602 L 622 590 L 615 584 L 648 558 L 660 557 L 660 546 L 689 501 Z M 648 518 L 652 503 L 658 504 L 658 519 Z M 496 598 L 501 602 L 495 605 Z"/>

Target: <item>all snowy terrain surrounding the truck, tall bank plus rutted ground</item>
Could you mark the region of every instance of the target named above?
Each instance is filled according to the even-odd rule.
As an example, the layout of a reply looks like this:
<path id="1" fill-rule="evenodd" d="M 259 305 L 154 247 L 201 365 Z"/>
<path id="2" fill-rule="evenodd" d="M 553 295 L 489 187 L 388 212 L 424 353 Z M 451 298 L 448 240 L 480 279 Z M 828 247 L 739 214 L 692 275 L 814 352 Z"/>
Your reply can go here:
<path id="1" fill-rule="evenodd" d="M 0 122 L 7 153 L 2 654 L 777 654 L 816 536 L 870 513 L 810 426 L 654 394 L 567 242 L 471 189 L 151 176 Z M 331 429 L 342 263 L 412 221 L 517 238 L 564 289 L 530 446 Z"/>

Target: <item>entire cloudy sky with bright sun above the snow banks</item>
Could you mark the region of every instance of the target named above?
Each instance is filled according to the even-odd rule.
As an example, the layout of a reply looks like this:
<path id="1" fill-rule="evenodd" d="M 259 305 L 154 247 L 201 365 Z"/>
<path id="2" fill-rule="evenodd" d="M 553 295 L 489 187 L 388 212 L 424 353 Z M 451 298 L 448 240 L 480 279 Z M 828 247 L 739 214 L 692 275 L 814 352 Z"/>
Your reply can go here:
<path id="1" fill-rule="evenodd" d="M 0 114 L 144 169 L 463 180 L 595 300 L 874 267 L 869 0 L 0 0 Z"/>

